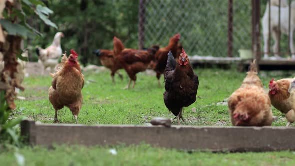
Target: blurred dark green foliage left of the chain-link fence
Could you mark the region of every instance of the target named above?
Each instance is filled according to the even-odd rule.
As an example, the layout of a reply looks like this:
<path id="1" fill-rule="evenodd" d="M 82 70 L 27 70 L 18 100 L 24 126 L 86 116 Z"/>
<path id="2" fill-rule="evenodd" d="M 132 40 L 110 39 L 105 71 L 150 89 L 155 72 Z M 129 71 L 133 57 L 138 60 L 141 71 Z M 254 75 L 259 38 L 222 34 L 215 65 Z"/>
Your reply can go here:
<path id="1" fill-rule="evenodd" d="M 75 49 L 82 64 L 99 64 L 92 51 L 113 49 L 114 36 L 126 47 L 138 47 L 138 0 L 51 0 L 47 6 L 54 11 L 50 18 L 59 28 L 40 24 L 32 17 L 30 25 L 43 34 L 31 41 L 33 46 L 49 46 L 56 32 L 62 31 L 62 50 Z"/>

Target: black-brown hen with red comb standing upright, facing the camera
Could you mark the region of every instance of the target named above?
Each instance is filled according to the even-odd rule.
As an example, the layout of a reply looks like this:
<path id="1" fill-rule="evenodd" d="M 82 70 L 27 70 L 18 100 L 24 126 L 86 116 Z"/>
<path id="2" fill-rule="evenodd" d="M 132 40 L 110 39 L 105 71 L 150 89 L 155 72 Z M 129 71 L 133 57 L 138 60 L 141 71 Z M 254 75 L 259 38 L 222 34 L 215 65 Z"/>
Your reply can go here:
<path id="1" fill-rule="evenodd" d="M 184 121 L 182 117 L 183 107 L 188 107 L 195 102 L 199 84 L 198 76 L 194 74 L 184 49 L 182 49 L 178 63 L 172 52 L 169 51 L 164 79 L 165 105 L 177 117 L 178 125 L 180 125 L 179 119 Z"/>

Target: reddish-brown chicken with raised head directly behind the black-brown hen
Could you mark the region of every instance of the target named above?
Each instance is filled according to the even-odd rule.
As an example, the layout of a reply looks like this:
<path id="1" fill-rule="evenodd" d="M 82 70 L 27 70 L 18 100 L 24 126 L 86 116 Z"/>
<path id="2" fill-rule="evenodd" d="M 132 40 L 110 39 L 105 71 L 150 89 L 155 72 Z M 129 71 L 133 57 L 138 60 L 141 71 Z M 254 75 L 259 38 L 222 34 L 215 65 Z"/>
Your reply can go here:
<path id="1" fill-rule="evenodd" d="M 174 35 L 172 38 L 170 38 L 168 46 L 160 48 L 155 54 L 155 64 L 151 65 L 154 66 L 153 70 L 156 72 L 156 77 L 158 79 L 159 86 L 161 74 L 164 73 L 164 70 L 167 65 L 168 52 L 171 51 L 174 58 L 176 57 L 179 40 L 180 34 Z"/>

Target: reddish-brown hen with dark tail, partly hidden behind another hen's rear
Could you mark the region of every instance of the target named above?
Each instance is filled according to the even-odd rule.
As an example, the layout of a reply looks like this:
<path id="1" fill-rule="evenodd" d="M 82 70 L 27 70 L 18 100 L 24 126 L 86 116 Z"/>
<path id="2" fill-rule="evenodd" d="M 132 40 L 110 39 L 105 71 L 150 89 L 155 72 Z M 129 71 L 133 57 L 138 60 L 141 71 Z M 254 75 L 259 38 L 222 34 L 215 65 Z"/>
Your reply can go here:
<path id="1" fill-rule="evenodd" d="M 108 68 L 112 69 L 114 66 L 114 51 L 112 50 L 105 50 L 105 49 L 97 49 L 93 51 L 93 53 L 100 59 L 101 64 Z M 116 71 L 116 73 L 119 75 L 121 80 L 123 80 L 123 75 L 119 73 L 119 71 Z M 115 83 L 114 75 L 111 75 L 112 82 Z"/>

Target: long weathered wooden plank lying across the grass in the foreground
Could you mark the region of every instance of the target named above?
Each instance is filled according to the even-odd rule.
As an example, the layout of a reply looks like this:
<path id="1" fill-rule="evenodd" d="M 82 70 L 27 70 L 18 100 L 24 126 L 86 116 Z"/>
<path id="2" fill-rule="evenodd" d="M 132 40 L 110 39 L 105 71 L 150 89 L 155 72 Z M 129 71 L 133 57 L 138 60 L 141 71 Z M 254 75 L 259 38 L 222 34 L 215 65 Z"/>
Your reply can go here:
<path id="1" fill-rule="evenodd" d="M 29 124 L 28 124 L 29 123 Z M 295 150 L 292 127 L 194 127 L 21 123 L 32 145 L 115 145 L 142 142 L 154 147 L 202 151 Z M 24 125 L 24 126 L 23 126 Z M 30 126 L 30 127 L 27 127 Z"/>

